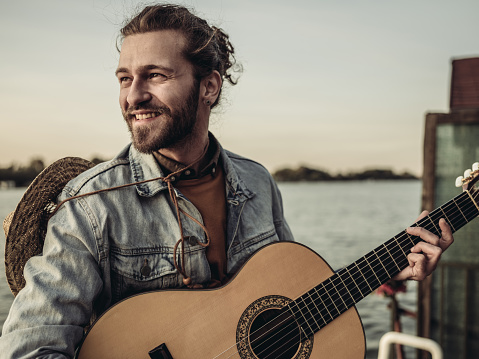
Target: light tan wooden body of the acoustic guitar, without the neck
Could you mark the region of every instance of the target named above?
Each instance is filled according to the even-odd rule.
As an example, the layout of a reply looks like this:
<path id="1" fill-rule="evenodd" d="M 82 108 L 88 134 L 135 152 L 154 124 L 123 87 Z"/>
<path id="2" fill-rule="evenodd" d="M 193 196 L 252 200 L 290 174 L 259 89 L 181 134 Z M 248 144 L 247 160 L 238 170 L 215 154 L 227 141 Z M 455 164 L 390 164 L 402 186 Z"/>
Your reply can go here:
<path id="1" fill-rule="evenodd" d="M 275 243 L 253 255 L 223 287 L 148 292 L 116 304 L 88 332 L 78 357 L 149 359 L 149 351 L 165 344 L 174 359 L 364 358 L 364 330 L 355 307 L 302 344 L 274 343 L 284 348 L 282 354 L 253 350 L 250 345 L 259 318 L 332 274 L 329 265 L 307 247 Z M 163 357 L 168 358 L 158 356 Z"/>

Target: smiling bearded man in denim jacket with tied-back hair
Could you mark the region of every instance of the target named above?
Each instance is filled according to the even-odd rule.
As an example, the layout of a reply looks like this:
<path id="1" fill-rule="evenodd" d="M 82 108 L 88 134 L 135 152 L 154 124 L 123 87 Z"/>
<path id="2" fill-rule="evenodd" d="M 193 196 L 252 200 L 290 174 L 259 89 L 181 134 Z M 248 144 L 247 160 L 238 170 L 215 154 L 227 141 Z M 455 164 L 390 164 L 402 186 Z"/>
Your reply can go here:
<path id="1" fill-rule="evenodd" d="M 259 248 L 293 240 L 268 172 L 208 132 L 223 81 L 235 84 L 228 36 L 167 5 L 146 7 L 121 34 L 116 76 L 133 144 L 64 188 L 43 255 L 25 266 L 2 357 L 72 357 L 92 316 L 119 300 L 221 285 Z M 397 279 L 434 270 L 453 240 L 441 229 L 409 230 L 425 242 Z"/>

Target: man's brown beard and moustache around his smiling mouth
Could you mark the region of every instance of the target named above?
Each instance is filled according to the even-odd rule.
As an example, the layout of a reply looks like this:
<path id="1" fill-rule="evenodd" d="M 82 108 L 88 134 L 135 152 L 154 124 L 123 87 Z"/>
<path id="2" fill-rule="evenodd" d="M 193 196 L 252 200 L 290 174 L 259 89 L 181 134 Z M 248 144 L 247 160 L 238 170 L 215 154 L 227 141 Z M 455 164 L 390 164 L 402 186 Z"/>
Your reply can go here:
<path id="1" fill-rule="evenodd" d="M 196 125 L 199 98 L 199 83 L 193 84 L 183 106 L 170 108 L 166 105 L 155 106 L 143 103 L 130 107 L 123 112 L 133 146 L 141 152 L 151 154 L 162 148 L 171 148 L 180 144 L 193 133 Z M 136 121 L 132 111 L 148 110 L 161 113 L 160 119 L 142 126 L 133 127 Z M 160 123 L 158 123 L 160 122 Z"/>

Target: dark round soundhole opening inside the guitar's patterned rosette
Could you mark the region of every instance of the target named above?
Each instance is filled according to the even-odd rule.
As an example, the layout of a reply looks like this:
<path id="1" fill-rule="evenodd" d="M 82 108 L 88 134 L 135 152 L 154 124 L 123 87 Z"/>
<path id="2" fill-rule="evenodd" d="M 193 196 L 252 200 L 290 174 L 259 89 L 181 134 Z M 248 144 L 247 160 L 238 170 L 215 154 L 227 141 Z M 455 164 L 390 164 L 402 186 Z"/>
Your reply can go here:
<path id="1" fill-rule="evenodd" d="M 301 344 L 296 321 L 279 309 L 262 312 L 250 328 L 250 345 L 258 359 L 294 358 Z"/>

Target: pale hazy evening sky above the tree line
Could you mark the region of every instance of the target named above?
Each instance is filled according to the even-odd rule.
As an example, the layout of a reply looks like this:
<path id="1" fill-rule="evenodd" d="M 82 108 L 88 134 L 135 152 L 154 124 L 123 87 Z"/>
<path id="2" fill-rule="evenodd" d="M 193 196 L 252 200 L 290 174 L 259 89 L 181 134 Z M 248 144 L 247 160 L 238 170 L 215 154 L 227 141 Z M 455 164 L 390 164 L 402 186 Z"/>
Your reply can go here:
<path id="1" fill-rule="evenodd" d="M 477 0 L 185 0 L 243 73 L 210 129 L 270 171 L 422 173 L 425 114 L 449 112 L 451 61 L 479 56 Z M 0 167 L 112 158 L 130 136 L 116 37 L 134 0 L 1 0 Z"/>

